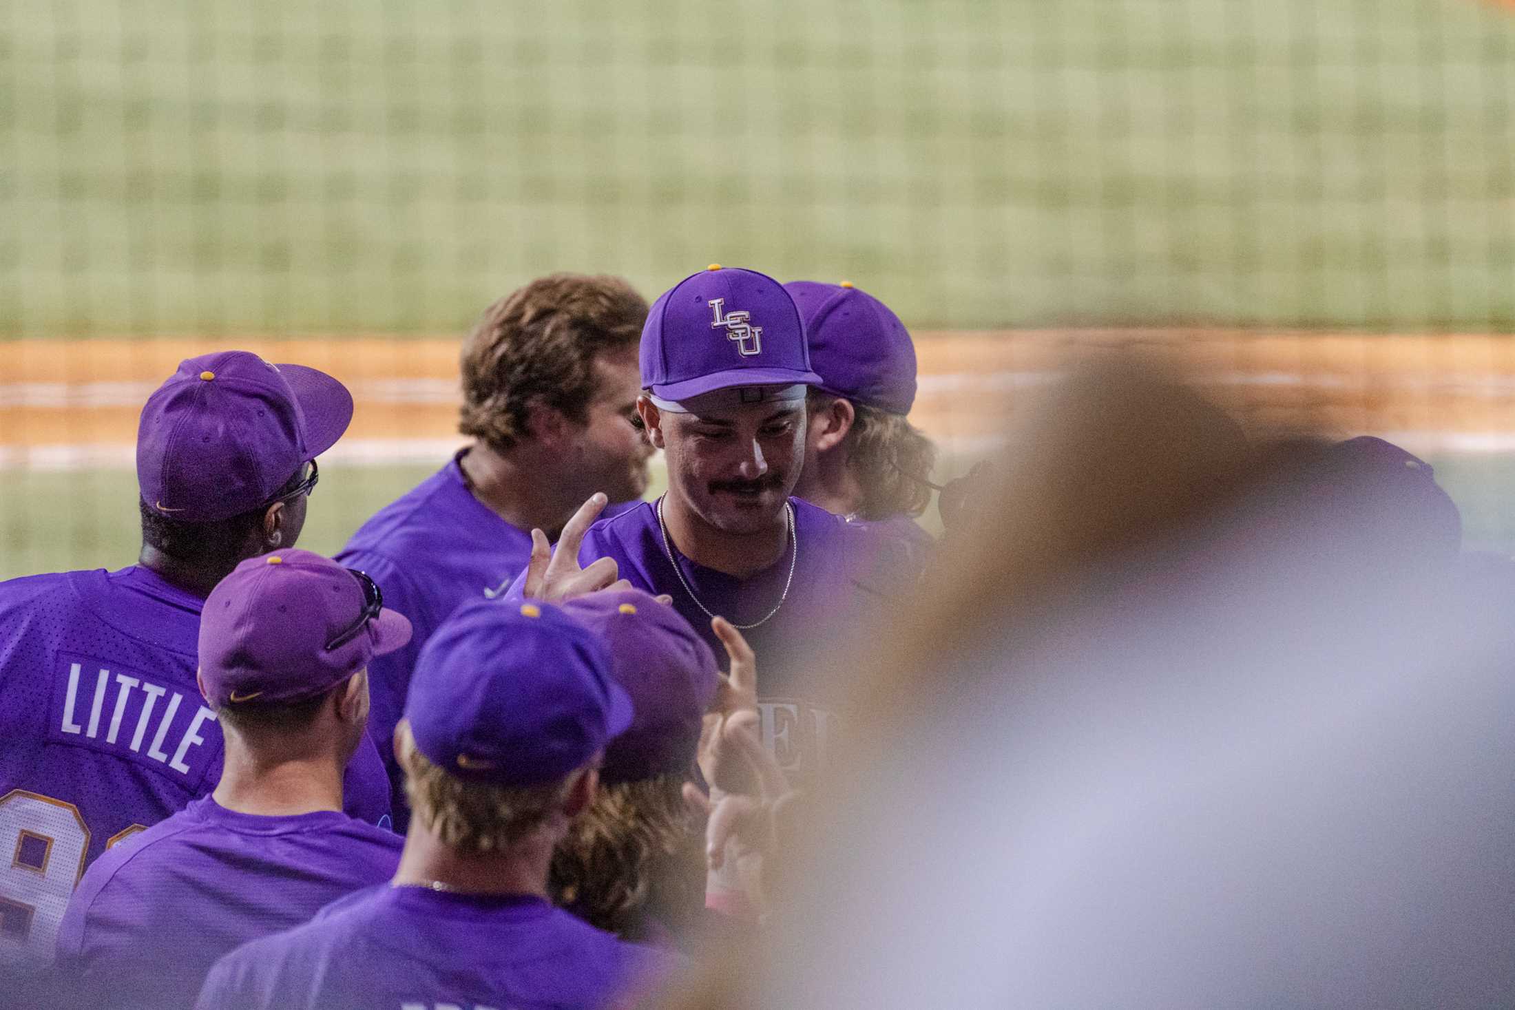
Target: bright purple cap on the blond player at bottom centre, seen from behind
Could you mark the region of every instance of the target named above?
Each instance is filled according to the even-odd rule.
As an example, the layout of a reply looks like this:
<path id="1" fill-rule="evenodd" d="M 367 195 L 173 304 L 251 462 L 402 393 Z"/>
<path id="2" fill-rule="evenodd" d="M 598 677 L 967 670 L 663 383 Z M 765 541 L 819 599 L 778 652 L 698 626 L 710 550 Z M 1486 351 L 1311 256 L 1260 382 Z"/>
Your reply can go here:
<path id="1" fill-rule="evenodd" d="M 583 768 L 632 724 L 594 631 L 539 601 L 474 600 L 415 662 L 415 745 L 465 781 L 536 786 Z"/>

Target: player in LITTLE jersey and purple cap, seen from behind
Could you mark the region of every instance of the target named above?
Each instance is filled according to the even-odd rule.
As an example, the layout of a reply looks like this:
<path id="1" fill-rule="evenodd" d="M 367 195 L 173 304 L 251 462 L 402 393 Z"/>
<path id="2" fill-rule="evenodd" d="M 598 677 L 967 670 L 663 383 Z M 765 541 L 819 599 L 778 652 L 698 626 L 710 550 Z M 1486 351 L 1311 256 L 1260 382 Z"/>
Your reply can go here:
<path id="1" fill-rule="evenodd" d="M 242 559 L 294 547 L 315 457 L 351 413 L 314 368 L 191 357 L 142 409 L 138 563 L 0 584 L 0 957 L 50 959 L 85 868 L 215 787 L 221 731 L 195 686 L 205 598 Z M 377 824 L 388 801 L 367 740 L 345 809 Z"/>

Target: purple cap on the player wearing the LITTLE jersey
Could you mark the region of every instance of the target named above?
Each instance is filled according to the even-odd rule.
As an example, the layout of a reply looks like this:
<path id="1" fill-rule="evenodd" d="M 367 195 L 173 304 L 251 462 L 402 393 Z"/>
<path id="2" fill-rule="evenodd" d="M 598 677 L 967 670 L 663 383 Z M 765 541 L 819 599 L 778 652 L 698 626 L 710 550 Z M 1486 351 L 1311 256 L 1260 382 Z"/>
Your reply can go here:
<path id="1" fill-rule="evenodd" d="M 214 522 L 273 500 L 353 419 L 326 373 L 250 351 L 189 357 L 153 391 L 136 429 L 142 501 L 170 519 Z"/>

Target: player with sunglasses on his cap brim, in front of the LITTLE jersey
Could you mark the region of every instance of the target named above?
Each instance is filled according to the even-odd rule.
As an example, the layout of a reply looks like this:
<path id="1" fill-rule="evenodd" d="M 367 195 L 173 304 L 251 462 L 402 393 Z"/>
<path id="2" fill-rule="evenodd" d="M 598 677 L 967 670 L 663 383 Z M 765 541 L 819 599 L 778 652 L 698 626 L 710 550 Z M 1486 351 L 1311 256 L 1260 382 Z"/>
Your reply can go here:
<path id="1" fill-rule="evenodd" d="M 373 580 L 309 551 L 248 559 L 211 591 L 198 681 L 224 771 L 80 881 L 58 968 L 88 1005 L 188 1007 L 223 954 L 394 875 L 400 836 L 342 813 L 342 774 L 365 668 L 409 637 Z"/>

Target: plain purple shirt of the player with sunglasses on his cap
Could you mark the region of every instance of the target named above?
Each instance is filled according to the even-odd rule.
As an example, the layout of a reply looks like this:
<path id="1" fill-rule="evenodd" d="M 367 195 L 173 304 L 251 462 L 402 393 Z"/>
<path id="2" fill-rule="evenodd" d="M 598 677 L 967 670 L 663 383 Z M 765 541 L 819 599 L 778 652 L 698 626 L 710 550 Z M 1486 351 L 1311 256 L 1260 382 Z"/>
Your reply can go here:
<path id="1" fill-rule="evenodd" d="M 403 846 L 345 813 L 195 800 L 94 862 L 64 913 L 58 969 L 112 1007 L 189 1007 L 223 954 L 389 880 Z"/>

